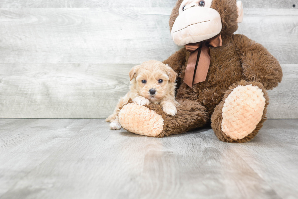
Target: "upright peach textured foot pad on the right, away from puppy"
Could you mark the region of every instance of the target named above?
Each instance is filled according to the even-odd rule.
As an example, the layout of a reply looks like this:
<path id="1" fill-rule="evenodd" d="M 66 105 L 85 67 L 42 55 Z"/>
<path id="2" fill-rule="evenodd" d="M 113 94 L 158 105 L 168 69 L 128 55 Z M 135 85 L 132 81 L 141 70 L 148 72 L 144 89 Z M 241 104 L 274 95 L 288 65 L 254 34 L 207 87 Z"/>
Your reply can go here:
<path id="1" fill-rule="evenodd" d="M 265 98 L 257 86 L 237 86 L 224 101 L 221 130 L 239 140 L 252 133 L 262 119 Z"/>

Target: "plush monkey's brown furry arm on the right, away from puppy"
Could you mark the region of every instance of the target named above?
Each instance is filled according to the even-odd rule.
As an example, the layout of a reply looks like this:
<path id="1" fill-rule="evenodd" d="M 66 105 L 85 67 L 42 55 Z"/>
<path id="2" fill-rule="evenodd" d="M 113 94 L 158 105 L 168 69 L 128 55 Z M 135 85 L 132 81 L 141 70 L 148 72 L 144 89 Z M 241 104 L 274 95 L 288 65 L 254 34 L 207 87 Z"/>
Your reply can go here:
<path id="1" fill-rule="evenodd" d="M 277 87 L 282 80 L 282 69 L 277 59 L 261 44 L 244 35 L 235 34 L 233 38 L 245 78 L 262 83 L 267 90 Z"/>

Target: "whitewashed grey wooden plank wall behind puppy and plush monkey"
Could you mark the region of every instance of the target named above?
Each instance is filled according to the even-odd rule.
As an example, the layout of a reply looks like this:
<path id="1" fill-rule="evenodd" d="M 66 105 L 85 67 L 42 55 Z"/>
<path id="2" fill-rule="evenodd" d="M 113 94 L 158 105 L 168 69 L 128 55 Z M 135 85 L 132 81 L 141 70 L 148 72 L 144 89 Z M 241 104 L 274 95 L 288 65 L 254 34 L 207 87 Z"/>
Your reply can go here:
<path id="1" fill-rule="evenodd" d="M 237 33 L 281 63 L 269 118 L 298 118 L 298 0 L 243 0 Z M 293 5 L 296 5 L 294 8 Z M 129 69 L 178 47 L 175 0 L 0 0 L 0 117 L 106 118 Z"/>

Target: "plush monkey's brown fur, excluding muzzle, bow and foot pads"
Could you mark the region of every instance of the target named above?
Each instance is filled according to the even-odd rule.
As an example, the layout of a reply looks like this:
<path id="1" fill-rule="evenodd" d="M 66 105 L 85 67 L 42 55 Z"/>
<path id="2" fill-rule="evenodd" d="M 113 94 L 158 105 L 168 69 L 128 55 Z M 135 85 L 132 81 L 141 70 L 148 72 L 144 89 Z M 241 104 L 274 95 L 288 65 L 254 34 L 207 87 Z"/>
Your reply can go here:
<path id="1" fill-rule="evenodd" d="M 178 16 L 182 0 L 178 0 L 170 16 L 170 29 Z M 147 107 L 162 115 L 164 128 L 158 137 L 184 133 L 210 123 L 221 141 L 247 142 L 262 128 L 266 120 L 269 97 L 266 90 L 271 90 L 282 80 L 279 62 L 261 44 L 248 37 L 234 34 L 237 30 L 236 0 L 213 0 L 211 8 L 216 9 L 222 21 L 221 47 L 210 47 L 211 62 L 205 82 L 188 87 L 183 83 L 186 65 L 190 53 L 182 48 L 175 52 L 165 64 L 171 66 L 178 74 L 177 100 L 181 104 L 177 115 L 169 116 L 162 112 L 159 105 Z M 238 85 L 259 87 L 266 99 L 262 119 L 256 129 L 241 140 L 227 137 L 221 130 L 222 108 L 224 100 Z"/>

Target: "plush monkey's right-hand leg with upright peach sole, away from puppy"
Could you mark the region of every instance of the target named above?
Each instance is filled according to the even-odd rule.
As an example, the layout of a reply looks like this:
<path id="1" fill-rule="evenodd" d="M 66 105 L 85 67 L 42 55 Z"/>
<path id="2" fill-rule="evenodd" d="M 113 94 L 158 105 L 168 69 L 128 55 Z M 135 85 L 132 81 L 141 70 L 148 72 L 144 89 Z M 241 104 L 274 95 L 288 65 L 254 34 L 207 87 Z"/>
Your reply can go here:
<path id="1" fill-rule="evenodd" d="M 248 142 L 266 121 L 269 97 L 261 83 L 241 80 L 229 87 L 217 105 L 211 127 L 219 140 Z"/>

